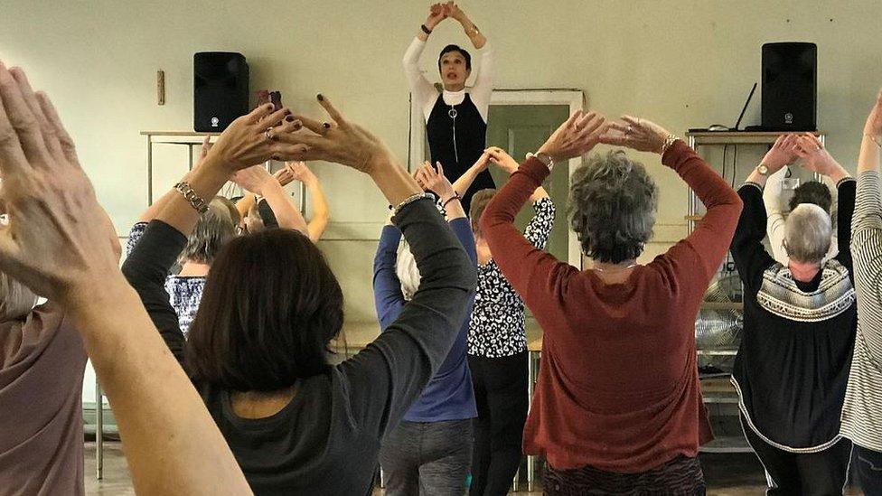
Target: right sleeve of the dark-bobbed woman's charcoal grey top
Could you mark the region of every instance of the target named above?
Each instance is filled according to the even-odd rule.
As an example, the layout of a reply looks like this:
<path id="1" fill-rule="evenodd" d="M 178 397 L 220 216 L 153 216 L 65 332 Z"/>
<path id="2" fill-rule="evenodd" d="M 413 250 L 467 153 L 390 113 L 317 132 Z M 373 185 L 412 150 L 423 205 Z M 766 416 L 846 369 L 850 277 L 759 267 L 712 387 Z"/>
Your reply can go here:
<path id="1" fill-rule="evenodd" d="M 394 222 L 422 275 L 418 291 L 380 337 L 338 366 L 353 420 L 378 437 L 398 425 L 445 360 L 477 283 L 474 264 L 432 201 L 409 204 Z"/>

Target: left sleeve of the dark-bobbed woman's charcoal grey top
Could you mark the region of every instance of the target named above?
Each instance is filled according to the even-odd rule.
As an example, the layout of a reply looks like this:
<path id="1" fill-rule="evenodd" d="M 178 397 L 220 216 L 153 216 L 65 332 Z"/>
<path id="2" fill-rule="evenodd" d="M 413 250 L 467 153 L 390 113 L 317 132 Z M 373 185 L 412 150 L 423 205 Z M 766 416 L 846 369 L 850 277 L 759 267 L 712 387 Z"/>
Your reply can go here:
<path id="1" fill-rule="evenodd" d="M 165 277 L 186 245 L 187 237 L 181 231 L 162 220 L 152 220 L 122 268 L 165 344 L 182 365 L 184 337 L 165 291 Z"/>

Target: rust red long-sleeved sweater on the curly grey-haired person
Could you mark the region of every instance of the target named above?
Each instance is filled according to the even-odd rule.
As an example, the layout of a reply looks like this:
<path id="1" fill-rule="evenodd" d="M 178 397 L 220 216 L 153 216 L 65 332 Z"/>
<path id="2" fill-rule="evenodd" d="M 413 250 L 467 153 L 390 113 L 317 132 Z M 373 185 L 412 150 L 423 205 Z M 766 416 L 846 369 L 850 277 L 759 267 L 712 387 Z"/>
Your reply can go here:
<path id="1" fill-rule="evenodd" d="M 741 201 L 682 141 L 662 157 L 707 214 L 689 238 L 624 284 L 606 285 L 533 248 L 512 224 L 549 175 L 531 158 L 481 219 L 493 259 L 544 330 L 524 451 L 556 469 L 640 473 L 713 438 L 701 402 L 695 317 L 735 232 Z"/>

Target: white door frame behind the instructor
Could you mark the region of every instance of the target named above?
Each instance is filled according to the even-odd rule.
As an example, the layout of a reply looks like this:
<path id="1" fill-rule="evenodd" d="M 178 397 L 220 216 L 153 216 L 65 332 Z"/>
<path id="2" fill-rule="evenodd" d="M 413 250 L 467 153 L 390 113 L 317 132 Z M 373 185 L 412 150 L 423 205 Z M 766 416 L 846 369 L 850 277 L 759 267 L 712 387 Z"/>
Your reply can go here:
<path id="1" fill-rule="evenodd" d="M 490 105 L 567 105 L 569 114 L 585 108 L 585 92 L 581 89 L 493 89 Z M 414 164 L 422 164 L 426 156 L 426 122 L 422 108 L 418 108 L 413 96 L 410 98 L 410 145 L 408 154 L 408 171 Z M 517 157 L 515 157 L 517 159 Z M 582 164 L 582 157 L 567 161 L 568 176 L 572 176 Z M 558 164 L 558 167 L 560 165 Z M 566 222 L 566 214 L 558 206 L 558 222 Z M 574 267 L 582 267 L 582 249 L 576 233 L 568 230 L 568 263 Z"/>

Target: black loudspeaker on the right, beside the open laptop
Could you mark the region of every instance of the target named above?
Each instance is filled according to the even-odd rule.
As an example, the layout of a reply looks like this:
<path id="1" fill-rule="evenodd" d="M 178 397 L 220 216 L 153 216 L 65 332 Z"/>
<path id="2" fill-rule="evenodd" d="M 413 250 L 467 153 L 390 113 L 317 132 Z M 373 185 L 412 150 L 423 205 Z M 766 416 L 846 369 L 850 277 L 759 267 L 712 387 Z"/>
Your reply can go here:
<path id="1" fill-rule="evenodd" d="M 765 43 L 763 129 L 815 131 L 817 128 L 818 45 Z"/>

